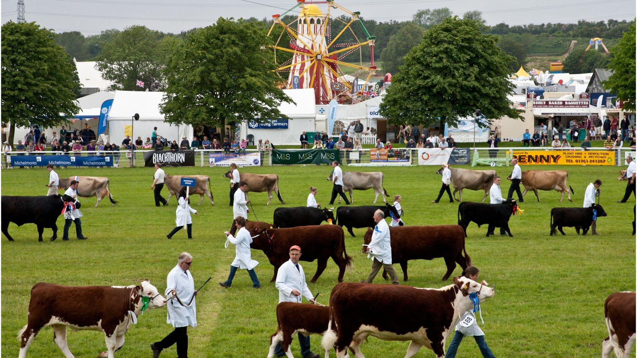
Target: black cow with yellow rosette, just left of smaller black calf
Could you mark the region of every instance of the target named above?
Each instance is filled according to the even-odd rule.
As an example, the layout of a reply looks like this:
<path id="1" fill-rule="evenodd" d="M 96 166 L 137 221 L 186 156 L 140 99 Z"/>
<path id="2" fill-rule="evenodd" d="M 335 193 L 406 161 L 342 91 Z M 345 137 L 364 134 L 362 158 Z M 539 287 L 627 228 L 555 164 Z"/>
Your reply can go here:
<path id="1" fill-rule="evenodd" d="M 517 207 L 513 199 L 506 199 L 500 204 L 463 201 L 458 205 L 458 225 L 462 226 L 465 237 L 467 236 L 469 222 L 472 221 L 478 224 L 478 227 L 483 224 L 489 226 L 487 228 L 487 237 L 493 233 L 496 227 L 502 227 L 509 236 L 513 237 L 511 229 L 509 229 L 509 218 L 517 210 Z"/>

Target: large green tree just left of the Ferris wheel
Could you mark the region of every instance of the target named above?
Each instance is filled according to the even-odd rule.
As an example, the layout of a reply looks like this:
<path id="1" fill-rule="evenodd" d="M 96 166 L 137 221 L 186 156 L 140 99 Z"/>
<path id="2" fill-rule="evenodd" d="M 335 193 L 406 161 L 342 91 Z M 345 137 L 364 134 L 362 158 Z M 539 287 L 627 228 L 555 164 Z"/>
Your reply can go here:
<path id="1" fill-rule="evenodd" d="M 243 120 L 287 118 L 278 110 L 293 103 L 275 83 L 276 64 L 266 29 L 219 18 L 188 34 L 166 66 L 166 122 L 218 126 Z M 222 133 L 223 135 L 223 133 Z"/>

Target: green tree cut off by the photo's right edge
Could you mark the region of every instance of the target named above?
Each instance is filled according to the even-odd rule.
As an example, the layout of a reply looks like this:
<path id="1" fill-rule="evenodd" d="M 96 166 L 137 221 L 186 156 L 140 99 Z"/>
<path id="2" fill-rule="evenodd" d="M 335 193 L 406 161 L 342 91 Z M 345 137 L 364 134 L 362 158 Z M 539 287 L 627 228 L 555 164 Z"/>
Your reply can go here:
<path id="1" fill-rule="evenodd" d="M 624 33 L 617 45 L 610 48 L 613 58 L 608 69 L 613 75 L 603 83 L 608 92 L 615 92 L 624 101 L 624 109 L 635 110 L 635 23 Z"/>

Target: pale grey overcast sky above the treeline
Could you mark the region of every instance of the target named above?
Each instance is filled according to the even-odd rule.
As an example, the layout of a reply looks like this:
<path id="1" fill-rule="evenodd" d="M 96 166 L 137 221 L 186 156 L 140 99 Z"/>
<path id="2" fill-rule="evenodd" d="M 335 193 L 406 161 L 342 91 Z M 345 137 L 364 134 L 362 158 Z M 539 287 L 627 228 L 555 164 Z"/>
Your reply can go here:
<path id="1" fill-rule="evenodd" d="M 177 33 L 212 24 L 219 17 L 270 18 L 294 6 L 296 0 L 24 0 L 24 3 L 28 22 L 36 21 L 56 32 L 80 31 L 89 36 L 130 25 Z M 413 13 L 426 8 L 446 6 L 460 16 L 465 11 L 480 10 L 489 25 L 608 18 L 631 20 L 636 6 L 635 0 L 342 0 L 337 3 L 350 11 L 360 11 L 364 18 L 378 21 L 409 20 Z M 15 22 L 17 0 L 1 0 L 1 6 L 2 23 Z"/>

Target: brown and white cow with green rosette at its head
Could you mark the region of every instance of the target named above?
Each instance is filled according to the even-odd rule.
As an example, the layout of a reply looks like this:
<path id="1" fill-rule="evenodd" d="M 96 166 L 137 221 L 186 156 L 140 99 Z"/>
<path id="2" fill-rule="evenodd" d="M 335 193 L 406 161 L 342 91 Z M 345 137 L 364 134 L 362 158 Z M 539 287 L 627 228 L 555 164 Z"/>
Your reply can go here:
<path id="1" fill-rule="evenodd" d="M 143 313 L 147 297 L 148 309 L 166 306 L 166 299 L 150 281 L 130 286 L 61 286 L 38 282 L 31 288 L 27 325 L 18 334 L 20 357 L 43 327 L 53 328 L 53 340 L 65 357 L 73 357 L 66 345 L 66 327 L 74 331 L 100 331 L 106 338 L 106 352 L 98 357 L 113 358 L 124 345 L 124 334 L 137 316 Z M 132 317 L 131 311 L 135 317 Z"/>

